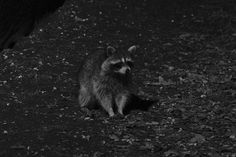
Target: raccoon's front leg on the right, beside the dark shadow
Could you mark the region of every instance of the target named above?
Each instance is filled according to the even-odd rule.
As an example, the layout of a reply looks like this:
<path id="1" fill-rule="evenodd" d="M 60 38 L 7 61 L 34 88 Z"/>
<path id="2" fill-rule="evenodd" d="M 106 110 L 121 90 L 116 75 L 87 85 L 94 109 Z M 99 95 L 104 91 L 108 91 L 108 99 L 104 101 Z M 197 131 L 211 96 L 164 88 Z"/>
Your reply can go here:
<path id="1" fill-rule="evenodd" d="M 125 105 L 128 102 L 128 99 L 129 99 L 129 94 L 128 93 L 119 94 L 115 98 L 117 110 L 121 115 L 124 115 L 123 110 L 125 108 Z"/>

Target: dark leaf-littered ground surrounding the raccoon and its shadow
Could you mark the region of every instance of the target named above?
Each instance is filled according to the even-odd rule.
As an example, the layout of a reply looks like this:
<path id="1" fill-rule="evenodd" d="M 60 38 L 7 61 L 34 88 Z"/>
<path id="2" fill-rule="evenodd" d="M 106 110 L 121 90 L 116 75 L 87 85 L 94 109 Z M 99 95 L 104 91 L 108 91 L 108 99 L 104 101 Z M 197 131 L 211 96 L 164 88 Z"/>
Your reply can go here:
<path id="1" fill-rule="evenodd" d="M 0 58 L 0 156 L 236 156 L 234 2 L 70 0 Z M 139 45 L 149 111 L 89 117 L 76 73 L 94 48 Z"/>

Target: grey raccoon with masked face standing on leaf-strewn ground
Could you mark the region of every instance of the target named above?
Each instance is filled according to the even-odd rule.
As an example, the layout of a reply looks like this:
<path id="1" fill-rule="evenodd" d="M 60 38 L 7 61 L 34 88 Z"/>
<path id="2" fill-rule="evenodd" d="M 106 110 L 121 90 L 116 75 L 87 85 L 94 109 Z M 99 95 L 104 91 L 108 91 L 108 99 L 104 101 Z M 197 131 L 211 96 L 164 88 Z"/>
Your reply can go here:
<path id="1" fill-rule="evenodd" d="M 110 117 L 115 115 L 114 108 L 123 115 L 131 95 L 131 54 L 136 48 L 131 46 L 127 52 L 123 52 L 108 46 L 106 50 L 98 50 L 88 56 L 78 76 L 81 108 L 89 108 L 97 103 Z"/>

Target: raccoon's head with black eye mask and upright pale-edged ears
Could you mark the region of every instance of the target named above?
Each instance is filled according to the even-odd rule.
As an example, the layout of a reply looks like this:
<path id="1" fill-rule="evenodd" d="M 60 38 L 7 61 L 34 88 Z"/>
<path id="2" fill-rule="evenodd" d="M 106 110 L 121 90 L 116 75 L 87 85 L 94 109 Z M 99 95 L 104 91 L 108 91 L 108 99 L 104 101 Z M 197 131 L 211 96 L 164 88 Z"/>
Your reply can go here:
<path id="1" fill-rule="evenodd" d="M 117 51 L 115 48 L 108 46 L 106 50 L 106 60 L 101 65 L 101 73 L 128 75 L 133 68 L 131 54 L 134 53 L 137 46 L 131 46 L 126 52 Z"/>

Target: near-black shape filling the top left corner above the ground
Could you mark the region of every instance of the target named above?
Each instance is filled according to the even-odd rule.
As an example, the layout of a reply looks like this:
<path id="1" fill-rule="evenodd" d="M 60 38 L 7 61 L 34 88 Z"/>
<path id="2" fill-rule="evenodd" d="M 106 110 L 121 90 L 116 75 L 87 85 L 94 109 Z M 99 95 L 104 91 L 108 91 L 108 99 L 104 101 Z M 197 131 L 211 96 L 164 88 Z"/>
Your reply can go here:
<path id="1" fill-rule="evenodd" d="M 35 24 L 55 12 L 65 0 L 0 0 L 0 51 L 28 36 Z"/>

